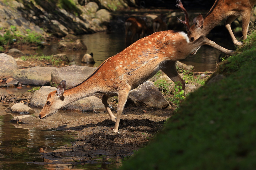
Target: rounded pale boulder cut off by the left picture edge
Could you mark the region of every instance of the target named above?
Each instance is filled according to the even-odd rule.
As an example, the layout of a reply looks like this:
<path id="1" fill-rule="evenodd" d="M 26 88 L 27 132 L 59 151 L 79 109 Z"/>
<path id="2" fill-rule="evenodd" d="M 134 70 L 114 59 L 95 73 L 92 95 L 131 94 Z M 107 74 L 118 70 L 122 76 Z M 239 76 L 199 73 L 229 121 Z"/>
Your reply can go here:
<path id="1" fill-rule="evenodd" d="M 9 56 L 7 54 L 0 54 L 0 75 L 2 76 L 12 76 L 16 70 L 18 69 L 17 62 L 12 56 Z"/>

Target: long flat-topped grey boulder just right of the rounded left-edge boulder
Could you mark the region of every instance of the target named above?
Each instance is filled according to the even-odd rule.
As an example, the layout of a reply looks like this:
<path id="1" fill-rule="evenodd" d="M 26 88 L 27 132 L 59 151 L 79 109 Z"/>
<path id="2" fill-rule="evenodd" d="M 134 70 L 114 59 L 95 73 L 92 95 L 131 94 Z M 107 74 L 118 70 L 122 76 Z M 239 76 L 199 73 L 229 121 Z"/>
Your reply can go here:
<path id="1" fill-rule="evenodd" d="M 32 67 L 18 69 L 13 77 L 22 84 L 46 85 L 51 81 L 51 72 L 56 67 Z"/>

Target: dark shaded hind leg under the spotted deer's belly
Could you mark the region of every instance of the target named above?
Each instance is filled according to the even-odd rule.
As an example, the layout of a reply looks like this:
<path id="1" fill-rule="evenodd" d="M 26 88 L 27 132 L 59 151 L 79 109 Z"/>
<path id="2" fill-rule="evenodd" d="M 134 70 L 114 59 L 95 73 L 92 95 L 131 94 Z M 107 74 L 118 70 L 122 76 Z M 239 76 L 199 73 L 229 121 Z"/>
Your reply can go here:
<path id="1" fill-rule="evenodd" d="M 165 66 L 161 69 L 173 82 L 180 82 L 182 90 L 185 90 L 185 80 L 183 80 L 176 69 L 176 61 L 167 61 Z"/>

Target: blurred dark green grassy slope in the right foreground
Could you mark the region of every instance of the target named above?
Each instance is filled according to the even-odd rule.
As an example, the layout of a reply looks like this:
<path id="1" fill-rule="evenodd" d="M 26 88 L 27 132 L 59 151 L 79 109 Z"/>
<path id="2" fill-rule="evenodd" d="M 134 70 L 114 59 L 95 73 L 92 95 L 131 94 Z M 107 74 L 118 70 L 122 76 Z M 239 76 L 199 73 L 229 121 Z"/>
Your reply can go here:
<path id="1" fill-rule="evenodd" d="M 256 33 L 120 169 L 255 169 Z M 214 77 L 214 75 L 211 76 Z"/>

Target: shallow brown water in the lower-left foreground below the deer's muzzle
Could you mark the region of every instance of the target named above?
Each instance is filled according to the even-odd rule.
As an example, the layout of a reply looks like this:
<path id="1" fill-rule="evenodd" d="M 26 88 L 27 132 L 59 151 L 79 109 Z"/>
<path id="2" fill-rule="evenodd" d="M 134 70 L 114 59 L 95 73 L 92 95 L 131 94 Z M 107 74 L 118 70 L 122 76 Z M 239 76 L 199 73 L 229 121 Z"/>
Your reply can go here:
<path id="1" fill-rule="evenodd" d="M 78 113 L 69 115 L 74 117 Z M 56 114 L 56 115 L 61 115 Z M 110 158 L 99 155 L 92 158 L 92 163 L 83 165 L 55 163 L 55 160 L 47 159 L 47 152 L 51 153 L 60 146 L 72 146 L 76 143 L 72 132 L 48 129 L 43 127 L 34 128 L 33 125 L 10 123 L 17 115 L 6 114 L 0 116 L 0 169 L 113 169 L 120 161 L 119 158 Z M 77 115 L 79 116 L 79 114 Z M 80 115 L 81 116 L 81 115 Z M 56 119 L 52 117 L 48 121 Z M 61 161 L 61 160 L 60 160 Z"/>

